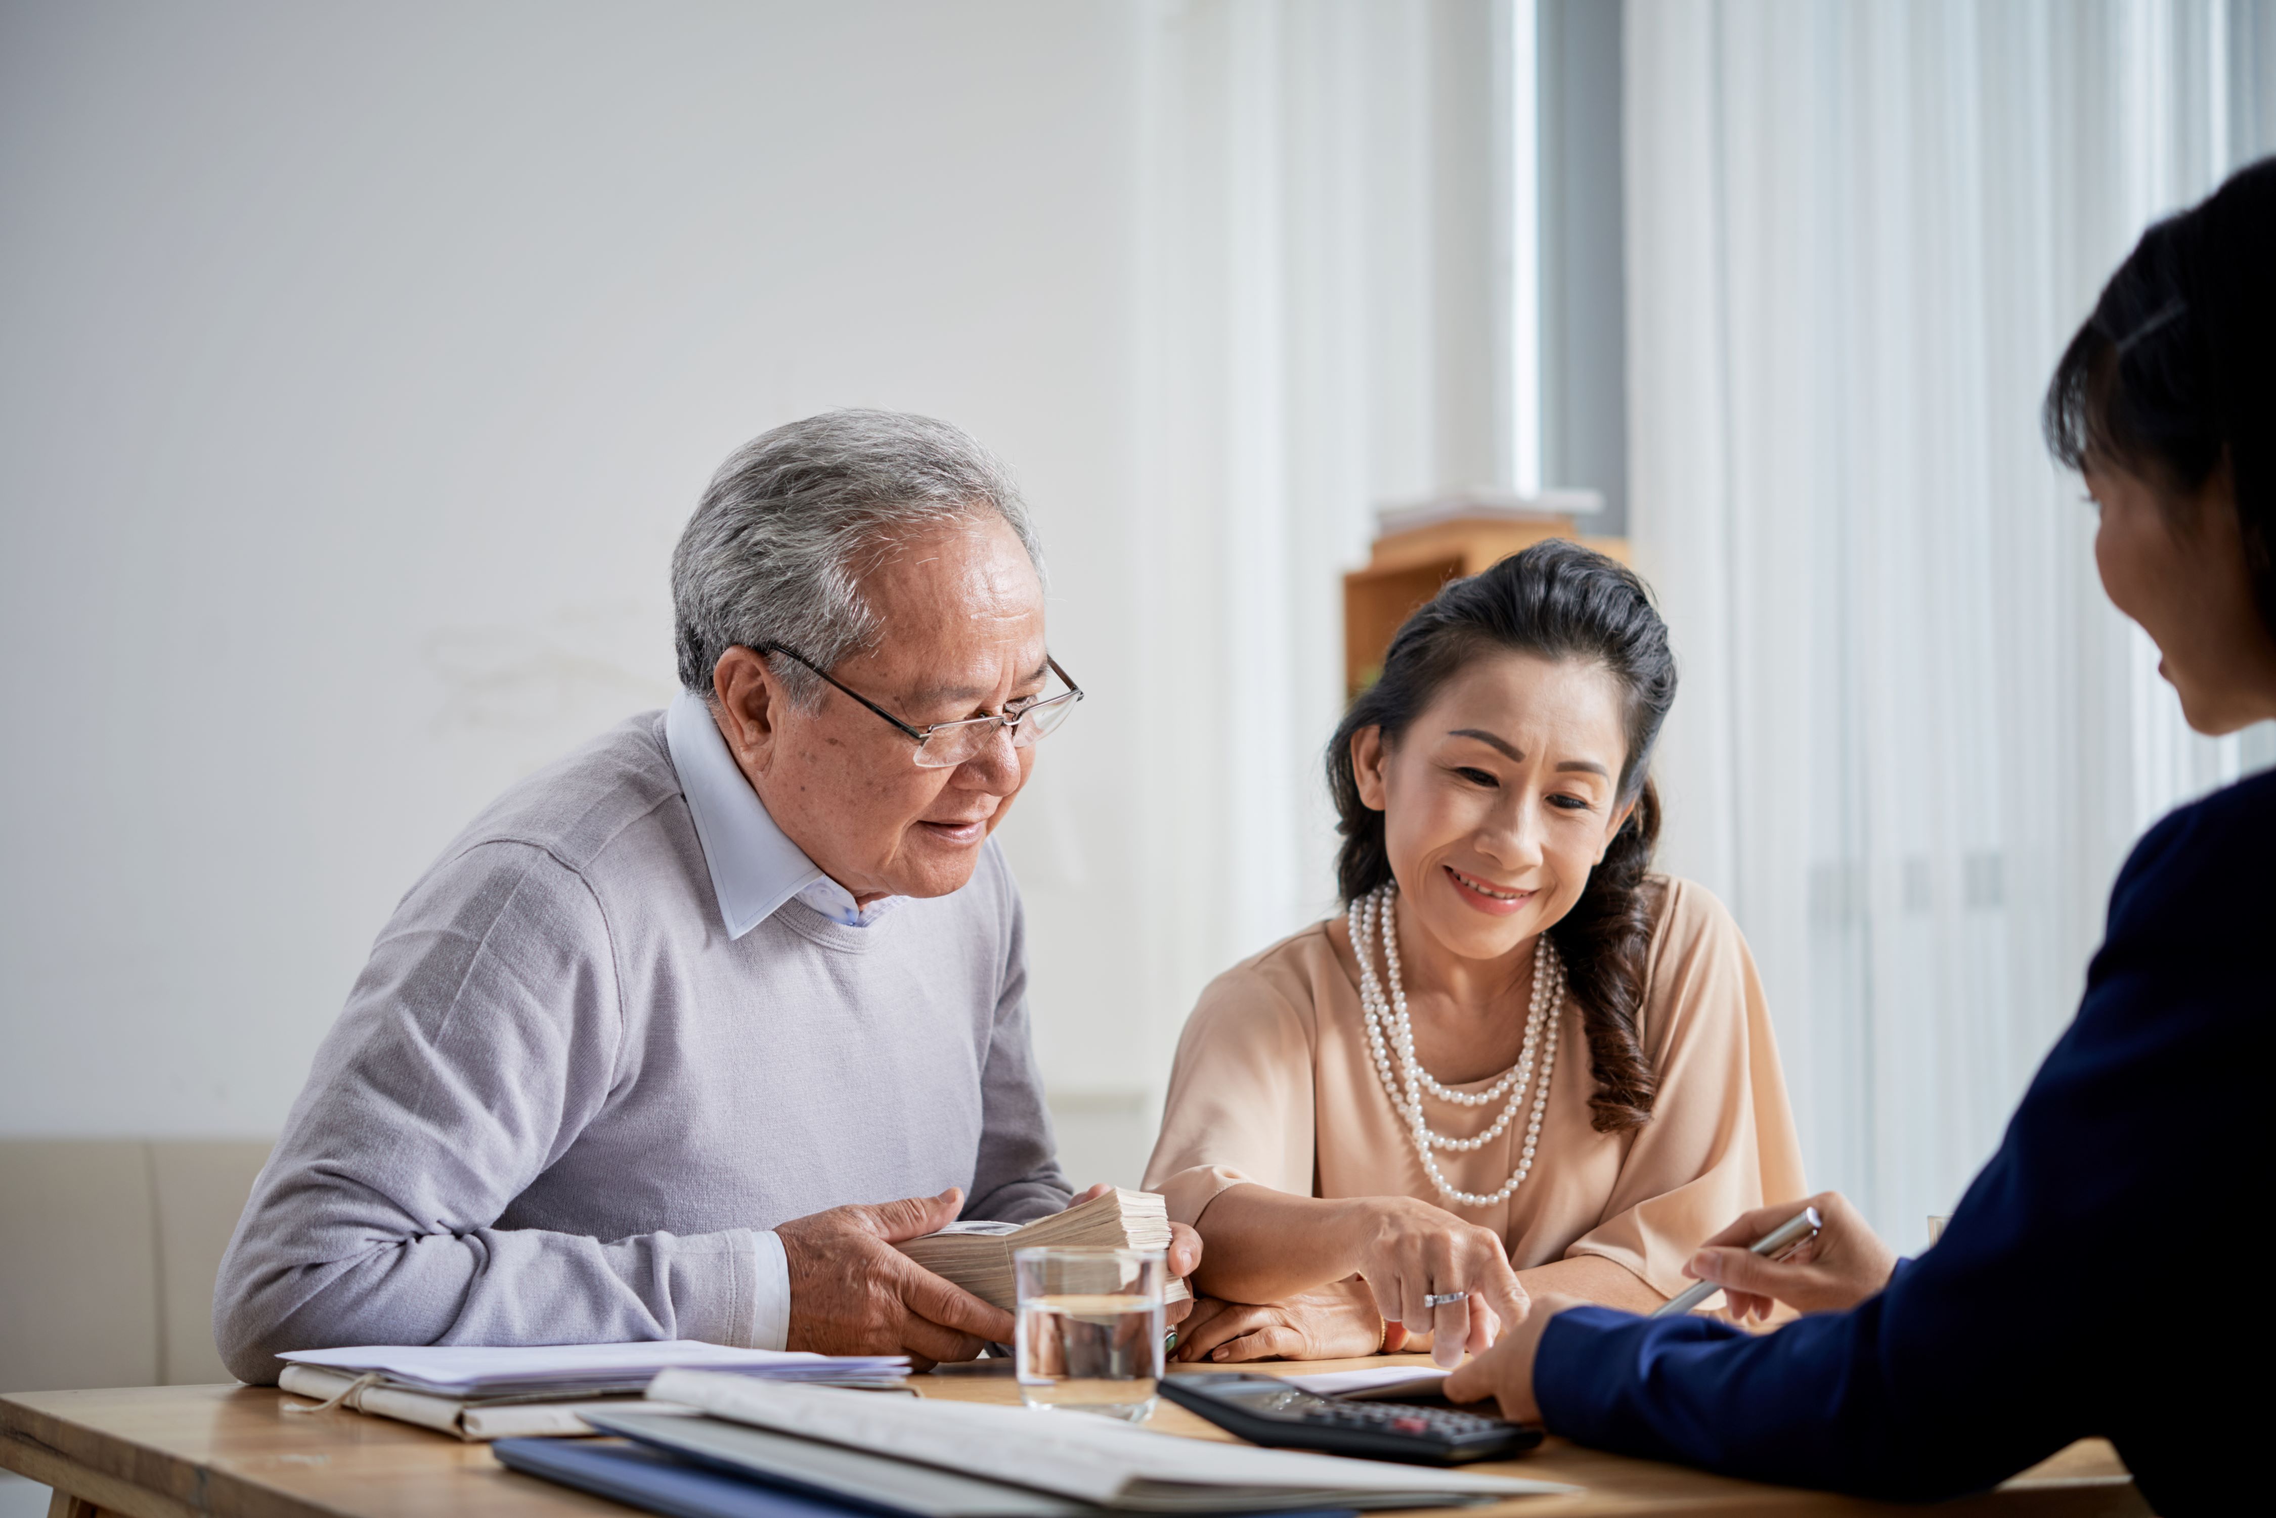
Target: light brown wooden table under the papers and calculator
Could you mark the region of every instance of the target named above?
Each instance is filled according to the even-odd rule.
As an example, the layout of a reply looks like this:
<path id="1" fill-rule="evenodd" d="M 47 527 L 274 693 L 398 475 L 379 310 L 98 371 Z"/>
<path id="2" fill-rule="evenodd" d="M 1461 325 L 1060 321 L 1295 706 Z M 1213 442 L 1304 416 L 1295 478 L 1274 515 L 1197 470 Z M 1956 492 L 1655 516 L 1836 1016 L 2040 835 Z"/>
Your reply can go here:
<path id="1" fill-rule="evenodd" d="M 1295 1375 L 1391 1361 L 1252 1366 Z M 1017 1402 L 1006 1377 L 915 1377 L 926 1397 Z M 273 1386 L 148 1386 L 132 1391 L 34 1391 L 0 1397 L 0 1466 L 55 1488 L 50 1518 L 569 1518 L 633 1509 L 498 1466 L 467 1445 L 387 1418 L 351 1411 L 284 1416 L 291 1397 Z M 1163 1404 L 1156 1429 L 1224 1438 L 1193 1413 Z M 1914 1513 L 1919 1507 L 1859 1502 L 1793 1486 L 1759 1486 L 1682 1466 L 1632 1461 L 1550 1438 L 1520 1461 L 1486 1466 L 1586 1491 L 1518 1498 L 1466 1513 L 1568 1518 L 1605 1513 Z M 1935 1513 L 2001 1518 L 2139 1518 L 2149 1513 L 2108 1443 L 2080 1441 L 1998 1491 L 1948 1502 Z"/>

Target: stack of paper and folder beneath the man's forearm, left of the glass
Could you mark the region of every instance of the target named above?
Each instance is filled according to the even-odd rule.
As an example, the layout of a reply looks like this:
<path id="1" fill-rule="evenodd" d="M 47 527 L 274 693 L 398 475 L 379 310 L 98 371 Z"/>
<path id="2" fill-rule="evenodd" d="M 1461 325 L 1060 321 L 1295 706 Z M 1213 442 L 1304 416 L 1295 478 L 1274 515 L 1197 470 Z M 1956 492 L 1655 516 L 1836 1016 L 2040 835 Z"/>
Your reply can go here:
<path id="1" fill-rule="evenodd" d="M 467 1441 L 558 1438 L 592 1434 L 585 1413 L 624 1406 L 655 1372 L 701 1366 L 740 1377 L 851 1386 L 908 1386 L 908 1356 L 826 1356 L 781 1350 L 731 1350 L 692 1338 L 633 1345 L 360 1345 L 300 1350 L 278 1384 L 316 1402 L 455 1434 Z M 605 1397 L 617 1397 L 608 1402 Z M 640 1402 L 644 1413 L 692 1413 Z"/>

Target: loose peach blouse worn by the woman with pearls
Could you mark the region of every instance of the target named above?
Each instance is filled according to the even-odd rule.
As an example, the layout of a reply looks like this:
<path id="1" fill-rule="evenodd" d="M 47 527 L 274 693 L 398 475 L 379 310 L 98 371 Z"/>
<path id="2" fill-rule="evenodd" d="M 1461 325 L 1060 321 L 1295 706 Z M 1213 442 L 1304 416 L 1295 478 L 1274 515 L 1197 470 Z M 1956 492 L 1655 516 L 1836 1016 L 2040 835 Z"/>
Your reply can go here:
<path id="1" fill-rule="evenodd" d="M 1532 1174 L 1498 1206 L 1450 1204 L 1422 1174 L 1375 1074 L 1359 985 L 1318 922 L 1202 992 L 1177 1045 L 1147 1190 L 1168 1197 L 1177 1222 L 1195 1222 L 1243 1181 L 1311 1197 L 1409 1195 L 1491 1227 L 1518 1270 L 1600 1254 L 1675 1295 L 1691 1284 L 1682 1265 L 1700 1240 L 1766 1199 L 1807 1188 L 1771 1015 L 1739 924 L 1702 885 L 1659 883 L 1643 1008 L 1659 1097 L 1641 1129 L 1589 1127 L 1589 1040 L 1568 999 Z M 1448 1136 L 1486 1129 L 1498 1108 L 1425 1097 L 1432 1129 Z M 1441 1152 L 1445 1179 L 1468 1193 L 1500 1190 L 1527 1115 L 1482 1149 Z"/>

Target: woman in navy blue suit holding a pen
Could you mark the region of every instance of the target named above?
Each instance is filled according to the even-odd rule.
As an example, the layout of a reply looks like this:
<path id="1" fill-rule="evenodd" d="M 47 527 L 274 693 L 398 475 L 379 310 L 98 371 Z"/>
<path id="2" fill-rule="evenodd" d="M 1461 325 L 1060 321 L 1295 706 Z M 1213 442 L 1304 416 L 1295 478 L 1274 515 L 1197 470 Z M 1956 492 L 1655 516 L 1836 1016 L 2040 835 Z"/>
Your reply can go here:
<path id="1" fill-rule="evenodd" d="M 2276 717 L 2276 159 L 2142 237 L 2055 369 L 2046 437 L 2190 726 Z M 1689 1272 L 1741 1315 L 1800 1309 L 1784 1329 L 1541 1297 L 1448 1395 L 1625 1454 L 1910 1500 L 2105 1436 L 2167 1518 L 2226 1509 L 2262 1463 L 2242 1388 L 2269 1366 L 2249 1240 L 2271 1020 L 2260 774 L 2135 847 L 2078 1017 L 1921 1259 L 1828 1193 L 1816 1245 L 1766 1263 L 1743 1245 L 1798 1202 L 1762 1208 Z"/>

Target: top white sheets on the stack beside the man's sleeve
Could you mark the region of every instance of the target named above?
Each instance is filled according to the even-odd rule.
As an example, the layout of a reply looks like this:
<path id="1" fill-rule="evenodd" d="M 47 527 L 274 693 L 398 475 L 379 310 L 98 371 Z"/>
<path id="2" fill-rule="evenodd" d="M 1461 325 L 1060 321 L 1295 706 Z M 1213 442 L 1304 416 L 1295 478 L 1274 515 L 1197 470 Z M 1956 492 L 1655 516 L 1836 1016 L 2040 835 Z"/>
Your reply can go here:
<path id="1" fill-rule="evenodd" d="M 630 1345 L 355 1345 L 294 1350 L 278 1359 L 348 1375 L 385 1375 L 396 1386 L 444 1397 L 512 1391 L 640 1391 L 658 1370 L 699 1366 L 790 1381 L 892 1381 L 908 1375 L 906 1354 L 808 1354 L 803 1350 L 735 1350 L 696 1338 Z"/>

